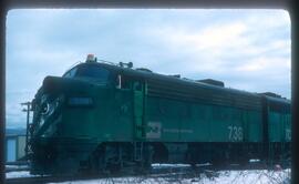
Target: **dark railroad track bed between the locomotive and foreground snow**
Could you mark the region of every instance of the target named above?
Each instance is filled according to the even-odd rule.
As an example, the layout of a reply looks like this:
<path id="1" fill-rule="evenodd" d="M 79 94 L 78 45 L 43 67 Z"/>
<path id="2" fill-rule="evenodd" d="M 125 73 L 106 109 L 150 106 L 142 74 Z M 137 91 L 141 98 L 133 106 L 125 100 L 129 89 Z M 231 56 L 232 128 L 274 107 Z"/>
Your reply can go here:
<path id="1" fill-rule="evenodd" d="M 272 167 L 271 167 L 272 168 Z M 7 178 L 7 184 L 43 184 L 43 183 L 58 183 L 66 181 L 84 181 L 84 180 L 100 180 L 100 178 L 112 178 L 112 177 L 124 177 L 124 176 L 143 176 L 143 177 L 194 177 L 199 173 L 206 173 L 207 175 L 217 175 L 218 171 L 241 171 L 241 170 L 271 170 L 265 164 L 248 164 L 247 166 L 240 165 L 228 165 L 221 167 L 215 167 L 213 165 L 200 165 L 197 167 L 192 166 L 165 166 L 154 167 L 147 172 L 134 173 L 130 170 L 115 174 L 106 173 L 101 175 L 62 175 L 62 176 L 30 176 L 30 177 L 17 177 Z"/>

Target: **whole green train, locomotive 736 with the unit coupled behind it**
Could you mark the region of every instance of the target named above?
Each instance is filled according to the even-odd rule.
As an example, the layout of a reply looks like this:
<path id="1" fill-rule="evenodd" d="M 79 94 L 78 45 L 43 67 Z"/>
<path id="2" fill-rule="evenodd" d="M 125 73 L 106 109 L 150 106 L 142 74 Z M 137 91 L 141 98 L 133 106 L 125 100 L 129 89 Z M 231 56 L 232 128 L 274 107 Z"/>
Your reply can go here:
<path id="1" fill-rule="evenodd" d="M 289 100 L 93 55 L 61 78 L 47 76 L 32 108 L 32 173 L 290 157 Z"/>

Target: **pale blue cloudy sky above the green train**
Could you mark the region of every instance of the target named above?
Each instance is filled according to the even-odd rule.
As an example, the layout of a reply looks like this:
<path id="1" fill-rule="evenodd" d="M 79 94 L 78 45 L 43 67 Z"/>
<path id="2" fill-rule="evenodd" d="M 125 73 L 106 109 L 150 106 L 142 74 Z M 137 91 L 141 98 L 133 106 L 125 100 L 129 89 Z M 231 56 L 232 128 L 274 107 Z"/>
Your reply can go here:
<path id="1" fill-rule="evenodd" d="M 93 53 L 163 74 L 290 99 L 290 18 L 283 10 L 17 9 L 7 16 L 7 127 L 47 75 Z"/>

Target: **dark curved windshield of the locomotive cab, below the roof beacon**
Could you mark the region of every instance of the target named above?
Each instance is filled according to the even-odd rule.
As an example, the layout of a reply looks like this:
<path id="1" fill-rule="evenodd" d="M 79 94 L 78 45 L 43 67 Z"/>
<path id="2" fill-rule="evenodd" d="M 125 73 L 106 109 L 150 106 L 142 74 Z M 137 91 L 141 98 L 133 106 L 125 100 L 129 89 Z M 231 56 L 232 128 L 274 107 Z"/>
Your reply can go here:
<path id="1" fill-rule="evenodd" d="M 89 78 L 106 82 L 109 80 L 109 74 L 110 72 L 100 65 L 83 64 L 68 71 L 63 78 Z"/>

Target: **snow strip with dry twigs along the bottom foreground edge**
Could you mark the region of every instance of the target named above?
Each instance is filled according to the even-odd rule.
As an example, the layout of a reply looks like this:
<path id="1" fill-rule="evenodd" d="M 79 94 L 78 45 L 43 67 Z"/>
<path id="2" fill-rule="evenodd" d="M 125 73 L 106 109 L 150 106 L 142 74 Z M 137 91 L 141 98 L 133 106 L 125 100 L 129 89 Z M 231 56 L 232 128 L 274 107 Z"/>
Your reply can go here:
<path id="1" fill-rule="evenodd" d="M 220 172 L 207 172 L 207 173 L 194 173 L 192 177 L 183 177 L 179 174 L 173 174 L 172 176 L 136 176 L 136 177 L 110 177 L 99 178 L 90 181 L 74 181 L 62 182 L 59 184 L 289 184 L 290 183 L 290 170 L 281 171 L 267 171 L 267 170 L 250 170 L 250 171 L 220 171 Z M 52 183 L 53 184 L 53 183 Z M 58 183 L 56 183 L 58 184 Z"/>

